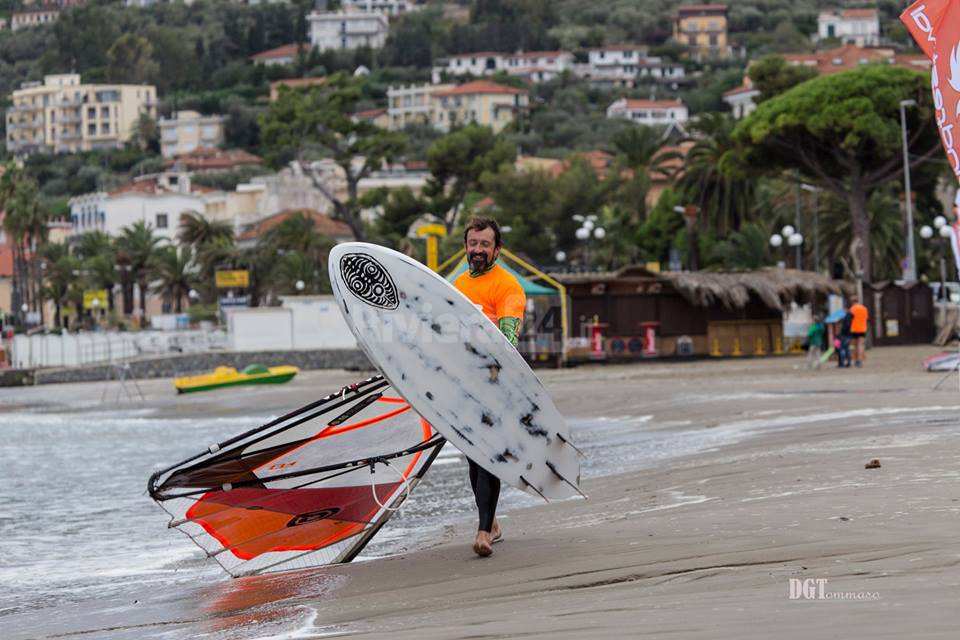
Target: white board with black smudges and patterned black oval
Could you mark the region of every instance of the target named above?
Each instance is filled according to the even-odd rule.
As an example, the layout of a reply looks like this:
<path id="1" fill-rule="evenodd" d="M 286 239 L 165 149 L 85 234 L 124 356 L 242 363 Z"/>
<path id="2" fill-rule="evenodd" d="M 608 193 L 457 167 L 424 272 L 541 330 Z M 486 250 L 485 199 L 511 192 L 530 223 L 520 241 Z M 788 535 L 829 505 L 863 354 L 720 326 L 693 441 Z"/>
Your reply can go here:
<path id="1" fill-rule="evenodd" d="M 379 245 L 330 252 L 357 342 L 407 402 L 468 458 L 544 498 L 579 493 L 566 421 L 500 330 L 449 282 Z"/>

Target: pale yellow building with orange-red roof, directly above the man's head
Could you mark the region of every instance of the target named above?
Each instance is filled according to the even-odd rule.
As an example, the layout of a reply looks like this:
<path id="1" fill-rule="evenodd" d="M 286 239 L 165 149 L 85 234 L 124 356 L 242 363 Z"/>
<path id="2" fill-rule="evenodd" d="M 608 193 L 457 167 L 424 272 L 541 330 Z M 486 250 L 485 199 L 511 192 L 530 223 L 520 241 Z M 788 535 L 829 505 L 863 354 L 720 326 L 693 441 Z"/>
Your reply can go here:
<path id="1" fill-rule="evenodd" d="M 440 131 L 476 123 L 499 133 L 530 103 L 529 92 L 486 80 L 435 91 L 433 97 L 433 126 Z"/>

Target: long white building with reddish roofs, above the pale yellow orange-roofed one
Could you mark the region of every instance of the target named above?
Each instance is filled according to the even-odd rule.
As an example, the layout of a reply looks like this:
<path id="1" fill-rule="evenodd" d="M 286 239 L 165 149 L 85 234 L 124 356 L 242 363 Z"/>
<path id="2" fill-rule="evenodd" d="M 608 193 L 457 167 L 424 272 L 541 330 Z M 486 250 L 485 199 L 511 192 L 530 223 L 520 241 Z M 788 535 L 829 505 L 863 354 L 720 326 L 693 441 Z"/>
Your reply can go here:
<path id="1" fill-rule="evenodd" d="M 573 54 L 566 51 L 462 53 L 439 61 L 439 64 L 433 68 L 433 83 L 438 84 L 444 75 L 482 77 L 498 72 L 531 82 L 548 82 L 564 71 L 573 69 L 573 61 Z"/>

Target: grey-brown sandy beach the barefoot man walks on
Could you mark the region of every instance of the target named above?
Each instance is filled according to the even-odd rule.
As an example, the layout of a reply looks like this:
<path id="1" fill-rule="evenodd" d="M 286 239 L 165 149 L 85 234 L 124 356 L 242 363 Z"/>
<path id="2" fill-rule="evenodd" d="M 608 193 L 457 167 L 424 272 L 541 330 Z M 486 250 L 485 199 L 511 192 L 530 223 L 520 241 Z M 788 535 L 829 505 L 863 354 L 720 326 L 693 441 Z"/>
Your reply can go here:
<path id="1" fill-rule="evenodd" d="M 473 523 L 461 519 L 413 537 L 409 551 L 288 578 L 329 588 L 301 590 L 309 624 L 270 637 L 955 638 L 960 392 L 956 378 L 933 390 L 940 374 L 919 363 L 935 351 L 876 349 L 859 370 L 808 371 L 783 357 L 541 371 L 571 419 L 629 417 L 651 434 L 723 444 L 587 477 L 589 500 L 503 513 L 505 539 L 489 559 L 473 555 Z M 169 381 L 141 386 L 149 407 L 229 417 L 296 406 L 344 375 L 307 372 L 229 407 L 171 396 Z M 4 390 L 0 410 L 62 408 L 100 389 Z M 882 466 L 865 469 L 874 458 Z M 181 604 L 159 618 L 91 615 L 13 637 L 162 637 L 191 623 L 263 638 L 244 620 L 285 597 L 276 584 L 259 583 L 245 602 L 234 597 L 242 581 L 224 577 L 232 604 L 206 614 Z"/>

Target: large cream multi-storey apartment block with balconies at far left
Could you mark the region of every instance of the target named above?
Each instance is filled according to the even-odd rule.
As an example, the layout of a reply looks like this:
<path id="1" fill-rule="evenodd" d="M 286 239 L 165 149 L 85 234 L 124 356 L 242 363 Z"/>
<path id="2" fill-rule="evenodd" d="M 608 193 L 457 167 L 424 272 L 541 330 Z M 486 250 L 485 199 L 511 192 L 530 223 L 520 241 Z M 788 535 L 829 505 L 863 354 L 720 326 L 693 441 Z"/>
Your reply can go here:
<path id="1" fill-rule="evenodd" d="M 45 76 L 14 91 L 7 109 L 7 150 L 75 153 L 123 146 L 141 114 L 156 117 L 151 85 L 83 84 L 80 74 Z"/>

